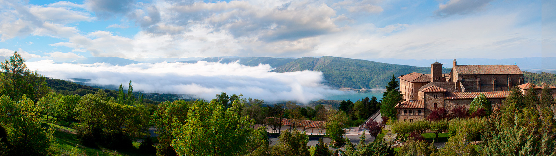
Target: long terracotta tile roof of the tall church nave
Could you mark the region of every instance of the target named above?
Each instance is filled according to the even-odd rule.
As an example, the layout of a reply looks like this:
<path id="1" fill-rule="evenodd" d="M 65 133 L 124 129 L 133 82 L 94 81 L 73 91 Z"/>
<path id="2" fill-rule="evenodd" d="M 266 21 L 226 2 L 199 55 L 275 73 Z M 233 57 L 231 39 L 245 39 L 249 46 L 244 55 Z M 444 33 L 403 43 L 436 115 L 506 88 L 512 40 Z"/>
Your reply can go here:
<path id="1" fill-rule="evenodd" d="M 454 69 L 460 75 L 523 74 L 517 65 L 458 65 Z"/>

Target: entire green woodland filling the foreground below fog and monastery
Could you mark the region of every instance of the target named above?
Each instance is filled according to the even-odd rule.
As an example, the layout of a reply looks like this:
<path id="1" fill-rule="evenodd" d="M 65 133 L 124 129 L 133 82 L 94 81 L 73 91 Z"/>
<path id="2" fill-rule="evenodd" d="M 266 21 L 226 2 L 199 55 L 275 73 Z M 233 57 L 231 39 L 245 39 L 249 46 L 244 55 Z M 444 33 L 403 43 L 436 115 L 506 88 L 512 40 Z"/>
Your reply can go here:
<path id="1" fill-rule="evenodd" d="M 523 95 L 513 88 L 497 107 L 481 94 L 469 108 L 439 108 L 425 120 L 396 121 L 394 106 L 403 98 L 394 76 L 381 99 L 326 108 L 270 105 L 226 93 L 211 100 L 148 102 L 133 92 L 131 81 L 118 90 L 57 88 L 29 71 L 17 53 L 0 68 L 0 155 L 556 155 L 556 102 L 547 88 L 540 97 L 533 89 Z M 377 111 L 383 122 L 365 123 Z M 281 119 L 299 124 L 281 129 Z M 297 130 L 307 127 L 304 120 L 321 121 L 326 133 Z M 361 135 L 353 144 L 344 128 L 361 124 L 375 139 L 367 143 Z M 320 138 L 309 146 L 310 137 L 331 142 Z M 437 148 L 435 142 L 445 145 Z"/>

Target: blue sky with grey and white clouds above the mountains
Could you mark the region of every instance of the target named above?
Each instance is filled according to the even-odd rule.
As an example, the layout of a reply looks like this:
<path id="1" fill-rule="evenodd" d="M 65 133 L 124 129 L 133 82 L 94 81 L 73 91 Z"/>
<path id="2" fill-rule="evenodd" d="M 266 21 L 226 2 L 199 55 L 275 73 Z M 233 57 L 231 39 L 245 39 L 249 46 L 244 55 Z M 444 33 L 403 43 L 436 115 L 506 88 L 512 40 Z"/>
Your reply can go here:
<path id="1" fill-rule="evenodd" d="M 554 3 L 0 0 L 0 56 L 556 57 Z"/>

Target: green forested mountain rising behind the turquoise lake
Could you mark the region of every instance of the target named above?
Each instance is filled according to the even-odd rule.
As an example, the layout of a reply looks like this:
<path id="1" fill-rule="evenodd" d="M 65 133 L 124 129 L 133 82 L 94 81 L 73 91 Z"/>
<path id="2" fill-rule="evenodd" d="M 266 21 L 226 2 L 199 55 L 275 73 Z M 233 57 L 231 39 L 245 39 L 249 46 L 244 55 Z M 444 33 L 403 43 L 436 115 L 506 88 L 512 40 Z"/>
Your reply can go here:
<path id="1" fill-rule="evenodd" d="M 320 71 L 328 85 L 347 88 L 384 87 L 392 74 L 398 77 L 411 72 L 430 73 L 430 67 L 413 67 L 361 59 L 324 56 L 304 57 L 277 67 L 272 72 Z M 445 68 L 444 73 L 449 69 Z"/>

